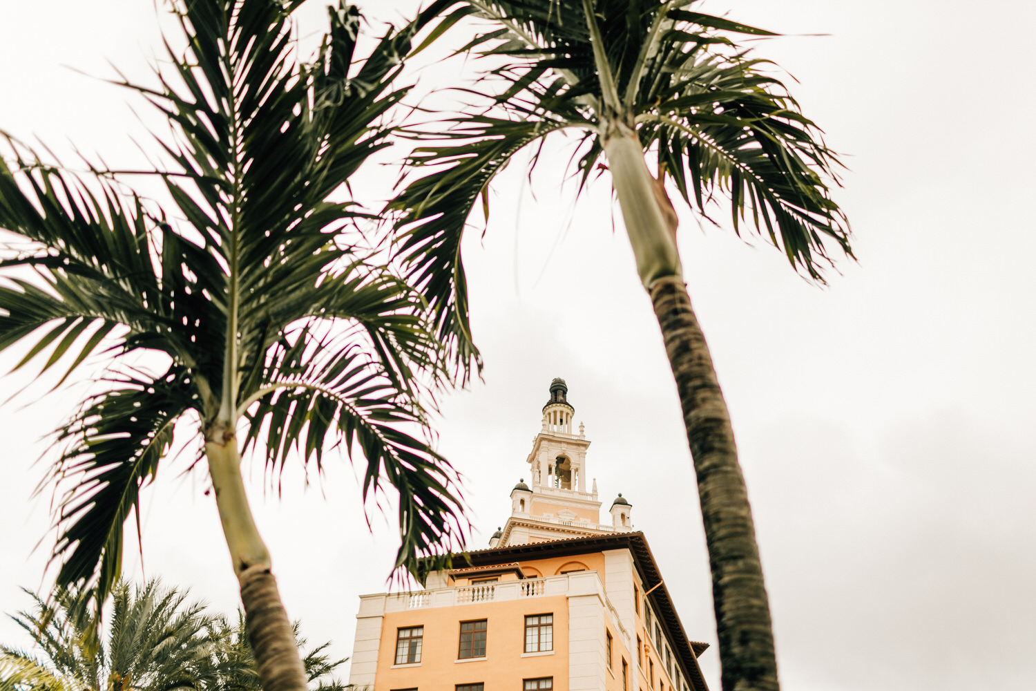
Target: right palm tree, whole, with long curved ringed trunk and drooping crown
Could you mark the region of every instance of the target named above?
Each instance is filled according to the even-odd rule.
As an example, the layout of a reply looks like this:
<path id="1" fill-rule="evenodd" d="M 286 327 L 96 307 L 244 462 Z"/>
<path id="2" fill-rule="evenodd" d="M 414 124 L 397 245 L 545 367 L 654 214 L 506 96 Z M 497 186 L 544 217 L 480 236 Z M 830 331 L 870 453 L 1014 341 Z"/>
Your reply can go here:
<path id="1" fill-rule="evenodd" d="M 579 190 L 607 170 L 677 382 L 698 481 L 726 690 L 778 688 L 767 593 L 733 434 L 681 273 L 666 189 L 700 214 L 730 201 L 735 229 L 766 236 L 812 279 L 848 225 L 830 199 L 834 154 L 784 86 L 725 34 L 772 32 L 689 9 L 693 0 L 469 0 L 491 23 L 464 50 L 492 56 L 485 107 L 418 129 L 399 213 L 400 256 L 461 362 L 471 343 L 461 235 L 494 175 L 525 147 L 576 133 Z M 485 27 L 485 25 L 481 25 Z M 492 90 L 494 85 L 498 89 Z M 473 106 L 473 105 L 472 105 Z M 445 134 L 442 134 L 442 133 Z M 443 141 L 445 140 L 445 141 Z M 657 177 L 646 159 L 654 160 Z M 537 160 L 534 156 L 534 162 Z M 535 163 L 533 164 L 535 165 Z"/>

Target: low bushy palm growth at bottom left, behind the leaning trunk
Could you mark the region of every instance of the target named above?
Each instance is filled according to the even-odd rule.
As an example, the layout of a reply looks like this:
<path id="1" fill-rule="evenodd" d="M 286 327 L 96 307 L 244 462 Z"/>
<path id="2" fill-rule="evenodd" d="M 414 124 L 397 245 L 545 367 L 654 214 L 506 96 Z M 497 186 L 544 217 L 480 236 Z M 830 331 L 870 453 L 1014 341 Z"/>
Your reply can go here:
<path id="1" fill-rule="evenodd" d="M 11 618 L 32 637 L 38 655 L 0 645 L 0 691 L 261 691 L 248 642 L 244 614 L 230 624 L 205 612 L 201 603 L 184 604 L 186 593 L 163 588 L 157 579 L 112 593 L 107 627 L 83 598 L 59 588 L 53 602 L 26 591 L 32 612 Z M 107 636 L 97 636 L 107 628 Z M 306 639 L 292 626 L 299 649 Z M 303 657 L 315 691 L 345 691 L 332 674 L 346 660 L 326 654 L 330 643 Z"/>

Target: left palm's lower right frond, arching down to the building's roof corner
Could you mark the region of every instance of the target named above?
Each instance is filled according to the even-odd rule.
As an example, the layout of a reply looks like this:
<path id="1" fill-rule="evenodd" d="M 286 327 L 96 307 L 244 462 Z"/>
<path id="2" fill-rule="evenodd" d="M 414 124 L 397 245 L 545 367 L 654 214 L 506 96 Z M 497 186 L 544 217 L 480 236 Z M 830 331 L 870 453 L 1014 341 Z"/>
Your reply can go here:
<path id="1" fill-rule="evenodd" d="M 363 349 L 336 341 L 304 327 L 277 345 L 264 377 L 269 391 L 244 415 L 244 450 L 262 447 L 276 469 L 290 452 L 313 458 L 318 470 L 332 445 L 340 443 L 353 462 L 358 454 L 367 463 L 365 498 L 376 498 L 385 486 L 399 493 L 396 568 L 410 569 L 422 555 L 464 542 L 457 473 L 427 439 L 408 431 L 421 430 L 423 411 Z"/>

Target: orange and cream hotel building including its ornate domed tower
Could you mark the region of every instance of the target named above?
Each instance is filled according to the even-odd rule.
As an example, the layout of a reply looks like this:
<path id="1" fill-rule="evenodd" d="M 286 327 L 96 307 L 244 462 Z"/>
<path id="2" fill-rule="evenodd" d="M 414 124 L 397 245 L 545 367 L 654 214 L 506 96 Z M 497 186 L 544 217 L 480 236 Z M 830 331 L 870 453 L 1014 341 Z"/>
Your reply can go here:
<path id="1" fill-rule="evenodd" d="M 349 678 L 372 691 L 708 691 L 630 502 L 600 522 L 563 379 L 511 516 L 470 566 L 359 599 Z"/>

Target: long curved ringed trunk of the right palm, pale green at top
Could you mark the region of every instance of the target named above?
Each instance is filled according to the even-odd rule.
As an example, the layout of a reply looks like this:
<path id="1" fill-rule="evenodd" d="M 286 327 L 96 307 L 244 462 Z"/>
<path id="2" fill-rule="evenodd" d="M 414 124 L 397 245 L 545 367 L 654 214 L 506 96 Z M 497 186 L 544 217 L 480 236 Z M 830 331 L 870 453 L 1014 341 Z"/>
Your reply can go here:
<path id="1" fill-rule="evenodd" d="M 632 128 L 612 123 L 605 155 L 640 280 L 677 381 L 698 482 L 723 691 L 778 691 L 770 604 L 730 415 L 684 284 L 677 214 Z"/>

